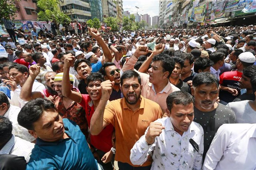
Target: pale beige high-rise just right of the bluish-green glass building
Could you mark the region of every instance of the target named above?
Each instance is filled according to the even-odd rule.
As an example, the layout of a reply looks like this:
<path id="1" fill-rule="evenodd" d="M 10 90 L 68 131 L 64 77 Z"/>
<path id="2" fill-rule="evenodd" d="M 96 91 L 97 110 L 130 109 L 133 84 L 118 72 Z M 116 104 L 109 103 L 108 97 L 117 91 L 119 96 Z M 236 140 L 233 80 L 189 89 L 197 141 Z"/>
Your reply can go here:
<path id="1" fill-rule="evenodd" d="M 101 0 L 103 17 L 116 17 L 116 4 L 113 0 Z"/>

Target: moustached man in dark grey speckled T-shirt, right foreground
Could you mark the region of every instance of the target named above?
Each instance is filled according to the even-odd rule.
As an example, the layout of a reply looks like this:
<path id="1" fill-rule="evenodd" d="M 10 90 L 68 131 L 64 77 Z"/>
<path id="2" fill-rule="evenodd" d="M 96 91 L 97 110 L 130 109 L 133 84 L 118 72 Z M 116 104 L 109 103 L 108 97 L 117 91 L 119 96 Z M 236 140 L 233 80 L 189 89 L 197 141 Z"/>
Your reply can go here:
<path id="1" fill-rule="evenodd" d="M 236 121 L 233 110 L 216 102 L 219 95 L 219 81 L 209 72 L 201 72 L 194 76 L 191 93 L 195 98 L 194 122 L 204 129 L 204 153 L 210 147 L 211 141 L 219 127 L 224 123 Z"/>

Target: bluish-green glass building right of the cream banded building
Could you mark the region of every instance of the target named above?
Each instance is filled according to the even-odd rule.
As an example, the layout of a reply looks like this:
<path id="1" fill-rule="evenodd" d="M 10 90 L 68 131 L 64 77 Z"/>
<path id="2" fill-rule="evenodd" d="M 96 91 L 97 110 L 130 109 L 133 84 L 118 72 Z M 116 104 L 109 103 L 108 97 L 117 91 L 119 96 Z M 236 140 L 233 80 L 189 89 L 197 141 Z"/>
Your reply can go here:
<path id="1" fill-rule="evenodd" d="M 98 18 L 99 21 L 103 21 L 102 3 L 101 0 L 89 0 L 91 15 L 93 18 Z"/>

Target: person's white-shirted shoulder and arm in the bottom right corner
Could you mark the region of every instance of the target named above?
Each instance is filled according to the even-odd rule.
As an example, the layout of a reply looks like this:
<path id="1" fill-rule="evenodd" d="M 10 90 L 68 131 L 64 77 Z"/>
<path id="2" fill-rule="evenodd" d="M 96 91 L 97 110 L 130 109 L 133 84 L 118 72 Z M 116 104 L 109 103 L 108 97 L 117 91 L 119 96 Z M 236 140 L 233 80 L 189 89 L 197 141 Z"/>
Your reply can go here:
<path id="1" fill-rule="evenodd" d="M 214 136 L 204 170 L 256 169 L 256 124 L 224 124 Z"/>

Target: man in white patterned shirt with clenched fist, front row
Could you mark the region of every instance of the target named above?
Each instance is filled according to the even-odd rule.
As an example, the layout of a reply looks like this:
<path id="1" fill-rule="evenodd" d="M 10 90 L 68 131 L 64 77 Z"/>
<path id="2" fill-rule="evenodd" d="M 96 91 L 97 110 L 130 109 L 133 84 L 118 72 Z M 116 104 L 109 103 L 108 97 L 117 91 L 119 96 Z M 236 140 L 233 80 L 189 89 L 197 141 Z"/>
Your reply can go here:
<path id="1" fill-rule="evenodd" d="M 151 155 L 152 170 L 202 169 L 204 132 L 193 122 L 193 96 L 175 91 L 168 95 L 166 103 L 168 117 L 150 123 L 131 149 L 132 164 L 143 164 Z"/>

